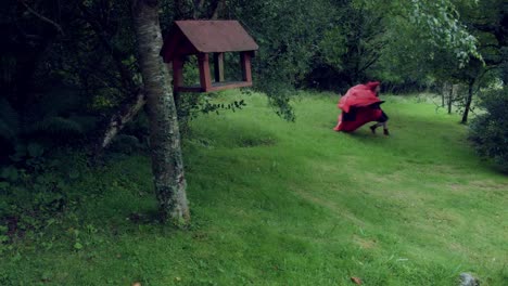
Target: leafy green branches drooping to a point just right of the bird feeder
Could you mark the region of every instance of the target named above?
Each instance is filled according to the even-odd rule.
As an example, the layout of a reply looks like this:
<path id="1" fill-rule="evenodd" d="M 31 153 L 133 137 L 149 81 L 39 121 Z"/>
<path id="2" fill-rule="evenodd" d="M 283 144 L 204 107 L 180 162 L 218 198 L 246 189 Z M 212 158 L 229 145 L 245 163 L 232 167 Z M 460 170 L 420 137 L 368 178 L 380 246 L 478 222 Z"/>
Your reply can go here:
<path id="1" fill-rule="evenodd" d="M 265 92 L 285 119 L 294 119 L 289 102 L 310 68 L 330 11 L 327 0 L 234 0 L 225 11 L 259 44 L 253 62 L 255 89 Z"/>

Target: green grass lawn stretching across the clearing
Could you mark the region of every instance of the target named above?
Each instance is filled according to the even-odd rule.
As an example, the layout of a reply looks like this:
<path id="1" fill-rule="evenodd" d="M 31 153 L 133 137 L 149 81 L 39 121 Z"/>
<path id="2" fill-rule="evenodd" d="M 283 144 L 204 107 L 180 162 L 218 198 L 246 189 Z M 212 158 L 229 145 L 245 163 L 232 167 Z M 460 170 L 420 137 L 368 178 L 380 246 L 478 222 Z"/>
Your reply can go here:
<path id="1" fill-rule="evenodd" d="M 333 132 L 332 94 L 302 96 L 296 122 L 256 94 L 204 115 L 185 145 L 189 230 L 151 222 L 147 156 L 115 159 L 73 184 L 74 211 L 3 253 L 0 282 L 406 286 L 470 272 L 508 285 L 508 178 L 457 116 L 385 100 L 391 136 Z"/>

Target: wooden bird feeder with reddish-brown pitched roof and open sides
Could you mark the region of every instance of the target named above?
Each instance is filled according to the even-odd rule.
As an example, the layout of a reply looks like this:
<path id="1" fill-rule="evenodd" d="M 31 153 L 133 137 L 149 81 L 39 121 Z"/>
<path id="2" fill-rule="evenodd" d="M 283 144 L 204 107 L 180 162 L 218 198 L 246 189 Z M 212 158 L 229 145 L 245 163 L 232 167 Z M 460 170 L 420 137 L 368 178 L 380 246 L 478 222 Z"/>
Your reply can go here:
<path id="1" fill-rule="evenodd" d="M 209 92 L 251 87 L 251 58 L 257 49 L 257 43 L 238 21 L 176 21 L 169 35 L 164 38 L 161 55 L 165 63 L 173 63 L 175 91 Z M 227 52 L 240 53 L 241 81 L 225 81 L 224 55 Z M 199 86 L 183 86 L 183 64 L 189 55 L 198 57 Z M 209 55 L 213 55 L 213 78 Z"/>

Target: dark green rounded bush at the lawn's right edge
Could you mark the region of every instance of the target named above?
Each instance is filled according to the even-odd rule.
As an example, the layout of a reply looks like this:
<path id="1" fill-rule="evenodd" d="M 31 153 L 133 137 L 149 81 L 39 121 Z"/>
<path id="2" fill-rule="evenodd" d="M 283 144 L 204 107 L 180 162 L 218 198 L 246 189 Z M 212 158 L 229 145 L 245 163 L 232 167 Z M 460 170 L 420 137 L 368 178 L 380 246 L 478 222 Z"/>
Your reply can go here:
<path id="1" fill-rule="evenodd" d="M 472 120 L 469 139 L 481 156 L 508 172 L 508 88 L 486 92 L 480 106 L 485 114 Z"/>

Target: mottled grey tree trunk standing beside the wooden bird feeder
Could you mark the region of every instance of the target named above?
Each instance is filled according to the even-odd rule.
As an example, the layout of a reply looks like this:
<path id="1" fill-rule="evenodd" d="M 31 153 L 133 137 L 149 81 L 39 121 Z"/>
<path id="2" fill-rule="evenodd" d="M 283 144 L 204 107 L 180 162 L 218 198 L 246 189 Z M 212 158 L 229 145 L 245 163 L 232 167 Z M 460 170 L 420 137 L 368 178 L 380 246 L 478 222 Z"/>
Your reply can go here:
<path id="1" fill-rule="evenodd" d="M 180 131 L 167 66 L 158 55 L 162 47 L 158 1 L 132 0 L 138 61 L 150 118 L 150 145 L 155 193 L 163 220 L 190 219 L 180 148 Z"/>

